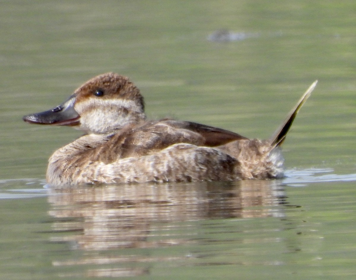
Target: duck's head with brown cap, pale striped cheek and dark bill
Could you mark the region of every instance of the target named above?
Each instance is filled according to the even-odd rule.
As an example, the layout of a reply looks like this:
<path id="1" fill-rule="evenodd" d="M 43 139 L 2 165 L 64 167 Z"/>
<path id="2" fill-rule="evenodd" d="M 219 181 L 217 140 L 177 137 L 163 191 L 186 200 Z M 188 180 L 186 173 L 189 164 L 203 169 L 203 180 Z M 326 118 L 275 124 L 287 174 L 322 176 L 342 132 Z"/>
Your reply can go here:
<path id="1" fill-rule="evenodd" d="M 87 81 L 61 105 L 23 120 L 103 134 L 145 119 L 144 109 L 140 90 L 127 77 L 106 73 Z"/>

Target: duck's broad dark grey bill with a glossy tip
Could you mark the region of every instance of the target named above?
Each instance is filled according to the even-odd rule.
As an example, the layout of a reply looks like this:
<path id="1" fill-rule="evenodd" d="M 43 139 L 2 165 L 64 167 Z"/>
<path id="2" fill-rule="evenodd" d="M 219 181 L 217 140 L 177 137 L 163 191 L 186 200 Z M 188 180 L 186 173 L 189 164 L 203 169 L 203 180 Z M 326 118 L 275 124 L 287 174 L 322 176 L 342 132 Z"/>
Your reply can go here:
<path id="1" fill-rule="evenodd" d="M 75 95 L 51 110 L 24 116 L 27 123 L 52 125 L 79 125 L 79 114 L 74 110 Z"/>

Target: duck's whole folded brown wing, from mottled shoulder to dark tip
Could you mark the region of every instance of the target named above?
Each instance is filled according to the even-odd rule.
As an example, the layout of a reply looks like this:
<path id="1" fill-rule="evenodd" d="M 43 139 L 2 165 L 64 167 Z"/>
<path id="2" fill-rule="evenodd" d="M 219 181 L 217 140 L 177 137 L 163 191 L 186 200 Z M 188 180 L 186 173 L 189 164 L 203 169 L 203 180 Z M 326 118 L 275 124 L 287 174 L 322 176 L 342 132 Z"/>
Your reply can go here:
<path id="1" fill-rule="evenodd" d="M 101 161 L 111 162 L 117 158 L 152 154 L 178 143 L 215 147 L 242 139 L 247 138 L 225 129 L 163 119 L 122 129 L 98 147 L 96 154 Z"/>

